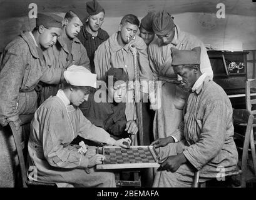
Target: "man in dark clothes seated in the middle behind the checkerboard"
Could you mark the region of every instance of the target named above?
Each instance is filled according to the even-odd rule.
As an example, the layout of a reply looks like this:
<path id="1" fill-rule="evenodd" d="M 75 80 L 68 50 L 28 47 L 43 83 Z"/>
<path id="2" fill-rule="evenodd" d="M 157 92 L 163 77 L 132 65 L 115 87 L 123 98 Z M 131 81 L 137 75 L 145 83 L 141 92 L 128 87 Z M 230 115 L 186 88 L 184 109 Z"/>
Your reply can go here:
<path id="1" fill-rule="evenodd" d="M 84 116 L 95 126 L 105 129 L 115 139 L 127 138 L 138 132 L 136 122 L 126 121 L 125 95 L 128 76 L 122 68 L 110 68 L 106 75 L 108 80 L 113 78 L 113 84 L 108 82 L 106 101 L 97 103 L 96 93 L 91 93 L 88 101 L 84 101 L 79 108 Z"/>

